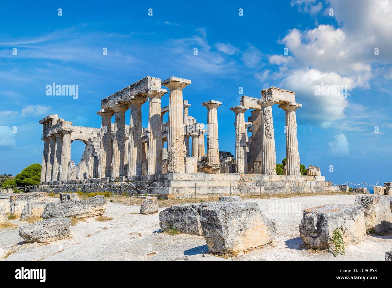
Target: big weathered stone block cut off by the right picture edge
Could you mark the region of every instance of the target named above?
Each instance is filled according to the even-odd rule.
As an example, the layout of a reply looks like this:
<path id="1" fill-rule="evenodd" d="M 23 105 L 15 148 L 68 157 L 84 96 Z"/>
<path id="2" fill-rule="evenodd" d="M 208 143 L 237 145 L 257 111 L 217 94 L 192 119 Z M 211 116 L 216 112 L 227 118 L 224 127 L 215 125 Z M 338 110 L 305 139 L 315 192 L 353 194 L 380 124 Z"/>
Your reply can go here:
<path id="1" fill-rule="evenodd" d="M 357 195 L 355 203 L 364 207 L 366 230 L 376 233 L 392 231 L 390 197 L 385 195 Z"/>

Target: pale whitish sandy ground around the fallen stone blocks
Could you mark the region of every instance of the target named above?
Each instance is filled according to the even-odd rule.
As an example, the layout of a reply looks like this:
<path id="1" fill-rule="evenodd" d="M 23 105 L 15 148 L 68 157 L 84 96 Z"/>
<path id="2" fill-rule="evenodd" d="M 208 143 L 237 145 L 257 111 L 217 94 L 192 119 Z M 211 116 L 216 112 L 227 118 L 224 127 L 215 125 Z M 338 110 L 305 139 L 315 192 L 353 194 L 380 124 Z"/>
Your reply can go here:
<path id="1" fill-rule="evenodd" d="M 385 252 L 392 246 L 392 234 L 366 235 L 361 243 L 346 247 L 345 255 L 337 257 L 327 252 L 313 253 L 304 247 L 298 232 L 303 209 L 327 203 L 354 203 L 354 199 L 355 195 L 317 195 L 244 200 L 256 201 L 265 215 L 276 223 L 276 238 L 271 244 L 248 250 L 233 260 L 385 261 Z M 192 202 L 191 199 L 189 201 Z M 283 209 L 282 205 L 290 207 Z M 26 222 L 11 220 L 18 226 L 0 229 L 0 260 L 170 261 L 208 251 L 204 237 L 162 233 L 158 213 L 142 215 L 139 211 L 138 205 L 108 202 L 105 216 L 113 220 L 98 222 L 96 217 L 88 218 L 88 222 L 71 226 L 71 237 L 48 244 L 25 243 L 18 232 Z"/>

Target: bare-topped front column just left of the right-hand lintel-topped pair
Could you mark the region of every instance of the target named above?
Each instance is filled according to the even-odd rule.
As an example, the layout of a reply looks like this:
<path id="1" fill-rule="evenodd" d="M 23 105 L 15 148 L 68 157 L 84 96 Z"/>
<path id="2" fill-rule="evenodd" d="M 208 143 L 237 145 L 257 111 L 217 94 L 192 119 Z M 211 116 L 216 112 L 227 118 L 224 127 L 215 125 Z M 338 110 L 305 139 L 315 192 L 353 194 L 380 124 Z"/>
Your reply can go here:
<path id="1" fill-rule="evenodd" d="M 236 113 L 236 173 L 248 173 L 248 160 L 246 154 L 246 127 L 244 112 L 249 107 L 238 105 L 231 107 Z"/>

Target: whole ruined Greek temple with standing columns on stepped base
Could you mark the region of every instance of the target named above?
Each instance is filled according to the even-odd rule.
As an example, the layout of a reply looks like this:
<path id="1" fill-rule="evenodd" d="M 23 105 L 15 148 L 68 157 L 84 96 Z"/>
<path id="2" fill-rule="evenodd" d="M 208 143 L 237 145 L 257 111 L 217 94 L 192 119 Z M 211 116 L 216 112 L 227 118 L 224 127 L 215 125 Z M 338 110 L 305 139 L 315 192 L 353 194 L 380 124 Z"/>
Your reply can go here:
<path id="1" fill-rule="evenodd" d="M 336 190 L 324 176 L 301 176 L 296 109 L 302 105 L 296 103 L 294 92 L 271 87 L 262 90 L 260 98 L 242 96 L 240 105 L 230 108 L 235 114 L 234 158 L 219 150 L 217 109 L 222 103 L 201 103 L 207 109 L 207 124 L 198 123 L 189 115 L 191 103 L 183 99 L 183 89 L 190 84 L 191 80 L 178 77 L 162 81 L 147 76 L 101 101 L 100 128 L 74 126 L 56 114 L 42 119 L 44 153 L 36 191 L 111 191 L 111 183 L 132 194 L 154 183 L 154 194 L 167 197 L 185 197 L 197 189 L 201 196 L 256 190 L 283 193 L 283 188 L 285 193 L 307 192 L 309 187 L 315 192 Z M 162 107 L 162 97 L 169 97 L 169 106 Z M 276 175 L 275 170 L 274 104 L 286 112 L 286 175 Z M 142 105 L 149 105 L 144 128 Z M 128 109 L 130 124 L 125 125 Z M 245 121 L 248 109 L 251 116 Z M 164 123 L 165 113 L 169 121 Z M 86 145 L 76 165 L 71 161 L 75 140 Z"/>

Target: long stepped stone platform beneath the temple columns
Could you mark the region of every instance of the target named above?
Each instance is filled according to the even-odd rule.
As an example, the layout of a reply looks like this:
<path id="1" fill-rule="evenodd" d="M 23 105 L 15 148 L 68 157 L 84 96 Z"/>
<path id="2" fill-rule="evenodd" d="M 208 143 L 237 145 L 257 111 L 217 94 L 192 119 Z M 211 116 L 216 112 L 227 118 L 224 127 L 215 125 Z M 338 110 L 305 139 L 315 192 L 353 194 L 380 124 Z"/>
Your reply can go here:
<path id="1" fill-rule="evenodd" d="M 167 173 L 116 178 L 91 178 L 40 183 L 31 192 L 105 192 L 156 195 L 162 198 L 224 195 L 338 192 L 324 176 L 238 173 Z"/>

